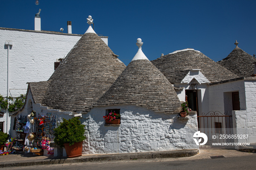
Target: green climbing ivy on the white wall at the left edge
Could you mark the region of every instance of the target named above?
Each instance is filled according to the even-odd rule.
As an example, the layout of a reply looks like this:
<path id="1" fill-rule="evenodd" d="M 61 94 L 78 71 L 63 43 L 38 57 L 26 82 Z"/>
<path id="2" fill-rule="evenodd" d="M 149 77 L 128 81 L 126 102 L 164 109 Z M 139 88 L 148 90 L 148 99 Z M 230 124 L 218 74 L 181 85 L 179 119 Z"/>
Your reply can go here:
<path id="1" fill-rule="evenodd" d="M 6 98 L 7 97 L 0 96 L 0 107 L 2 109 L 7 109 L 8 100 Z M 16 98 L 9 96 L 8 99 L 9 99 L 9 101 L 11 101 L 11 103 L 9 103 L 8 111 L 14 112 L 24 105 L 25 95 L 20 94 L 20 96 L 16 97 Z M 15 107 L 17 107 L 16 110 L 15 110 Z"/>

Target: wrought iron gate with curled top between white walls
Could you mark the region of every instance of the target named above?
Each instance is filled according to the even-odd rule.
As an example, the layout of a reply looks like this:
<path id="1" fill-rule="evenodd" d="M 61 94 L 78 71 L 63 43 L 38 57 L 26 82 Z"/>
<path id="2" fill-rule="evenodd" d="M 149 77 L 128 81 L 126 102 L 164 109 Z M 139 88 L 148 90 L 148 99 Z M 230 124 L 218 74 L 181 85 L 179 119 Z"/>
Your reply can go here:
<path id="1" fill-rule="evenodd" d="M 211 111 L 197 116 L 197 121 L 199 131 L 208 137 L 207 143 L 200 145 L 200 148 L 234 148 L 231 146 L 231 143 L 234 142 L 234 139 L 231 139 L 231 135 L 233 135 L 232 115 L 227 115 L 226 112 Z"/>

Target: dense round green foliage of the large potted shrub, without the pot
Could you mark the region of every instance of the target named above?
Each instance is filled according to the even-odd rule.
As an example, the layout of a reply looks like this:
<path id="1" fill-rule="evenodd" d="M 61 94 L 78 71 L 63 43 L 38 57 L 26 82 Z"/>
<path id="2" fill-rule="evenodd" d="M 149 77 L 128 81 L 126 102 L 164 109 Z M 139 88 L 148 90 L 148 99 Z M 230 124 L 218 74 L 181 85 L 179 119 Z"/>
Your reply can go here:
<path id="1" fill-rule="evenodd" d="M 64 143 L 73 145 L 86 139 L 84 136 L 84 126 L 82 125 L 78 117 L 72 119 L 63 119 L 63 122 L 54 129 L 54 142 L 63 147 Z"/>

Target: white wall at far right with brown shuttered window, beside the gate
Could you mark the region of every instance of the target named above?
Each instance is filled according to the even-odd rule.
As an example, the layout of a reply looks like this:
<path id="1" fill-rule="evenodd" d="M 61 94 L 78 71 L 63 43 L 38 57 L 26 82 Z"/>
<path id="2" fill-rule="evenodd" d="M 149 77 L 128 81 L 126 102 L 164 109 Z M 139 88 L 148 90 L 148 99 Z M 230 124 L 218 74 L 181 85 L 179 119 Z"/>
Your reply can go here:
<path id="1" fill-rule="evenodd" d="M 248 135 L 247 139 L 235 139 L 234 142 L 256 143 L 256 82 L 253 80 L 240 80 L 209 86 L 209 101 L 211 110 L 225 111 L 226 104 L 232 107 L 230 95 L 225 93 L 239 92 L 240 111 L 232 111 L 234 134 Z M 226 98 L 225 98 L 226 97 Z M 236 149 L 238 147 L 236 146 Z"/>

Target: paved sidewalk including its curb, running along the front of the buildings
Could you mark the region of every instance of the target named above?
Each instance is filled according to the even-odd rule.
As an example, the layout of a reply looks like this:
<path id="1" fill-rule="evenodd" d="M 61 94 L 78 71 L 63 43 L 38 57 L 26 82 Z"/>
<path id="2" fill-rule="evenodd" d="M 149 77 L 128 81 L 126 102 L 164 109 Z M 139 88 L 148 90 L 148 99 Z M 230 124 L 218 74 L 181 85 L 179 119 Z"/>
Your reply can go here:
<path id="1" fill-rule="evenodd" d="M 204 149 L 200 150 L 178 150 L 178 151 L 159 151 L 159 152 L 140 152 L 129 154 L 83 154 L 78 158 L 37 156 L 32 153 L 11 154 L 0 156 L 0 167 L 13 166 L 32 166 L 49 165 L 58 163 L 92 162 L 92 161 L 110 161 L 110 160 L 129 160 L 129 159 L 170 159 L 193 160 L 193 159 L 211 159 L 210 156 L 237 157 L 248 156 L 255 153 L 241 152 L 236 150 L 224 149 Z M 193 156 L 194 155 L 194 156 Z"/>

